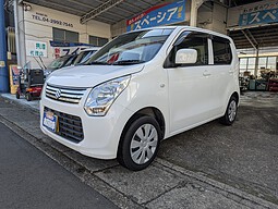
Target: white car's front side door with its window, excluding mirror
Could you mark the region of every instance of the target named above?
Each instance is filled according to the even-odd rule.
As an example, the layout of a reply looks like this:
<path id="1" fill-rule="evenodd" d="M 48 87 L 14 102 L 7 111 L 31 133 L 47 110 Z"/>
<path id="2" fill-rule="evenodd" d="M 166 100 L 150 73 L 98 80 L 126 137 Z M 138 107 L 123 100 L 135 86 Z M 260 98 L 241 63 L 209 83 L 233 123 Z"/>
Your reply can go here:
<path id="1" fill-rule="evenodd" d="M 211 50 L 208 37 L 203 33 L 183 32 L 165 63 L 169 79 L 170 134 L 196 126 L 211 116 Z M 174 64 L 179 49 L 195 49 L 196 63 Z"/>

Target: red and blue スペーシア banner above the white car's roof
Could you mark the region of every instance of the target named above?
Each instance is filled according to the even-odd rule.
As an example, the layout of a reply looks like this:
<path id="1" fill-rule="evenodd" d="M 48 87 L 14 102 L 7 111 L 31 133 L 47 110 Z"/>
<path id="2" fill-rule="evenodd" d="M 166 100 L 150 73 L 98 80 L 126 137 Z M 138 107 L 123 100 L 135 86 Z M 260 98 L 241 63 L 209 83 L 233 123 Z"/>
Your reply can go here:
<path id="1" fill-rule="evenodd" d="M 185 0 L 164 3 L 148 9 L 126 21 L 126 30 L 135 30 L 159 25 L 169 25 L 185 21 Z"/>

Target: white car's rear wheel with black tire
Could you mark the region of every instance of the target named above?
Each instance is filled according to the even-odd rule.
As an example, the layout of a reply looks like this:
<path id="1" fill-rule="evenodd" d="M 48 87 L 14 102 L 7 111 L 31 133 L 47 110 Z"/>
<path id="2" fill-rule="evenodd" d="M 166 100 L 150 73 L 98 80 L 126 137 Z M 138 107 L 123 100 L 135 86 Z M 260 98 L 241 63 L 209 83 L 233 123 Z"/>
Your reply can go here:
<path id="1" fill-rule="evenodd" d="M 220 123 L 222 123 L 223 125 L 231 125 L 235 121 L 237 114 L 238 114 L 238 99 L 234 96 L 231 96 L 225 115 L 220 118 Z"/>

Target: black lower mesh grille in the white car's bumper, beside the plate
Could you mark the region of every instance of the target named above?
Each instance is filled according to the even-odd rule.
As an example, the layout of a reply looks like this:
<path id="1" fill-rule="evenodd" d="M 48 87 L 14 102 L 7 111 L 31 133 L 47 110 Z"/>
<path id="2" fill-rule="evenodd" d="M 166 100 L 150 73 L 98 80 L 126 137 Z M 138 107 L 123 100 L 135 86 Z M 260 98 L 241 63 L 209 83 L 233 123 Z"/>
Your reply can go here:
<path id="1" fill-rule="evenodd" d="M 59 127 L 56 132 L 57 135 L 73 143 L 80 143 L 83 140 L 84 134 L 81 118 L 45 107 L 45 112 L 46 111 L 51 111 L 58 116 Z"/>

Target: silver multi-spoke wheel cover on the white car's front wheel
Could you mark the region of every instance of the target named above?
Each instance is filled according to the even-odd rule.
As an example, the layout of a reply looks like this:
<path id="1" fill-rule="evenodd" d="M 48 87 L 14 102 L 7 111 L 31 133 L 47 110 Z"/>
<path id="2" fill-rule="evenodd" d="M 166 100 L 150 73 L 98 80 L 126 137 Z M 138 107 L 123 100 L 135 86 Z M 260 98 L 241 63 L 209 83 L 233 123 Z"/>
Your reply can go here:
<path id="1" fill-rule="evenodd" d="M 154 125 L 144 124 L 137 128 L 131 139 L 130 153 L 137 164 L 150 160 L 157 149 L 158 133 Z"/>

